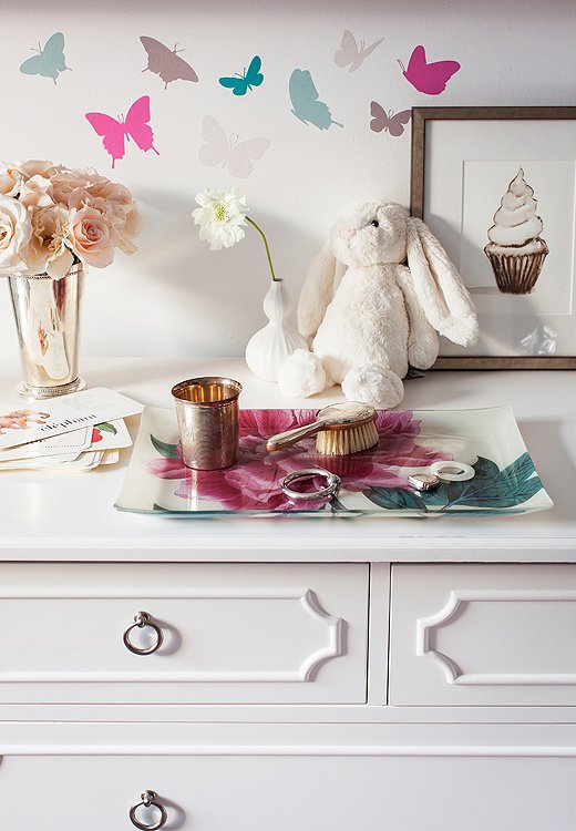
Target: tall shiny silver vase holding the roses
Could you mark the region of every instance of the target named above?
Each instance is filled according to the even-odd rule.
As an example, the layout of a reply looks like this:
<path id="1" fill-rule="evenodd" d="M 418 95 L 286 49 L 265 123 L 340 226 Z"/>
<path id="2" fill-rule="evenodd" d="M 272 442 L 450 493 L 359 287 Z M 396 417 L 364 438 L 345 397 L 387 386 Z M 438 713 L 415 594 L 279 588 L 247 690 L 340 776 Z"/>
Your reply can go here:
<path id="1" fill-rule="evenodd" d="M 8 284 L 22 367 L 18 393 L 37 400 L 83 389 L 78 371 L 82 264 L 74 264 L 60 280 L 48 274 L 11 275 Z"/>

